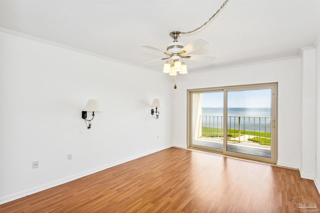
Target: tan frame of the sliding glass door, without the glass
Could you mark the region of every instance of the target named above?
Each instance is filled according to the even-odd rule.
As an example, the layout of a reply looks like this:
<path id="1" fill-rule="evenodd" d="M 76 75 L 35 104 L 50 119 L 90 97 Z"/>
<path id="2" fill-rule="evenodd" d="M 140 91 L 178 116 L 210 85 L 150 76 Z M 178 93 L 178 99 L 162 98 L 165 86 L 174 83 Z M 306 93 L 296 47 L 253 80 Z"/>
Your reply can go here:
<path id="1" fill-rule="evenodd" d="M 211 93 L 211 92 L 223 92 L 223 136 L 227 135 L 227 92 L 228 91 L 241 91 L 241 90 L 256 90 L 256 89 L 271 89 L 271 157 L 260 157 L 249 154 L 242 154 L 227 151 L 227 137 L 223 137 L 223 149 L 214 149 L 209 147 L 202 147 L 192 145 L 192 94 L 198 93 Z M 210 152 L 222 153 L 223 155 L 234 156 L 238 158 L 251 159 L 255 161 L 262 161 L 267 163 L 276 164 L 277 162 L 277 82 L 262 83 L 262 84 L 249 84 L 249 85 L 236 85 L 225 87 L 213 87 L 213 88 L 200 88 L 187 90 L 187 147 L 192 149 L 205 150 Z"/>

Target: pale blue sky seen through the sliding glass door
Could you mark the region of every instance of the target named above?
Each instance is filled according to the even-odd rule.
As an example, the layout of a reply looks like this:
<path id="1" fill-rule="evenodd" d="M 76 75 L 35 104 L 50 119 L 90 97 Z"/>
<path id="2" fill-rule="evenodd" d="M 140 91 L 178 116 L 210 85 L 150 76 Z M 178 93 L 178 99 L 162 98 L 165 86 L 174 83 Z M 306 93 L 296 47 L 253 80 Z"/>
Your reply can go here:
<path id="1" fill-rule="evenodd" d="M 271 106 L 271 89 L 228 91 L 227 107 L 267 107 Z M 202 107 L 223 107 L 223 92 L 202 93 Z"/>

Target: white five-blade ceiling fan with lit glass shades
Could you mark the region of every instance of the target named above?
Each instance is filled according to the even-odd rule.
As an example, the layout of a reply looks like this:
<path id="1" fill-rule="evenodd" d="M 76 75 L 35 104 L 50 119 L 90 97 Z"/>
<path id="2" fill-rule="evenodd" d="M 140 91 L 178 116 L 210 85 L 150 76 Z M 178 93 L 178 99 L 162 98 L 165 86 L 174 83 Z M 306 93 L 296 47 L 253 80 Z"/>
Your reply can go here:
<path id="1" fill-rule="evenodd" d="M 184 64 L 184 62 L 180 61 L 181 58 L 187 59 L 187 60 L 196 60 L 196 61 L 213 61 L 215 59 L 215 57 L 208 56 L 208 55 L 189 54 L 199 48 L 204 47 L 209 42 L 203 38 L 198 38 L 195 41 L 184 46 L 181 42 L 178 42 L 177 40 L 181 34 L 182 33 L 179 31 L 170 32 L 169 35 L 171 36 L 171 38 L 173 38 L 173 41 L 168 43 L 166 47 L 166 51 L 149 46 L 149 45 L 141 45 L 141 47 L 162 52 L 166 55 L 163 58 L 157 58 L 150 61 L 142 62 L 142 64 L 157 61 L 160 59 L 161 60 L 172 59 L 172 61 L 166 61 L 163 67 L 163 72 L 169 73 L 169 75 L 176 75 L 176 72 L 179 72 L 180 74 L 187 73 L 186 65 Z"/>

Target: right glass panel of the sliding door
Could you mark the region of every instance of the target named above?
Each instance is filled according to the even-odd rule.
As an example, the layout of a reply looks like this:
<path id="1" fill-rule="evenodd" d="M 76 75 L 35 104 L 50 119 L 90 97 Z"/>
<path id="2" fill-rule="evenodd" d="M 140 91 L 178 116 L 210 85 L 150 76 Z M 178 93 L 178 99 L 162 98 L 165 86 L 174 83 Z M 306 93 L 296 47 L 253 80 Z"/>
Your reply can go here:
<path id="1" fill-rule="evenodd" d="M 271 158 L 271 89 L 226 92 L 226 151 Z"/>

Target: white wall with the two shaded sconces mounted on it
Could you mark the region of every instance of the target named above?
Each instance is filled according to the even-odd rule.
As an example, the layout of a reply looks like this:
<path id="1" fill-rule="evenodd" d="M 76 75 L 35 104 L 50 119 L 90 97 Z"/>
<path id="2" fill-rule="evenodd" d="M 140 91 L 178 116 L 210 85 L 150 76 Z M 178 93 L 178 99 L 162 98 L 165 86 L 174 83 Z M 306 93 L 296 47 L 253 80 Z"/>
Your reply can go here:
<path id="1" fill-rule="evenodd" d="M 0 204 L 170 147 L 171 84 L 161 71 L 0 31 Z M 90 98 L 103 112 L 88 130 Z"/>

